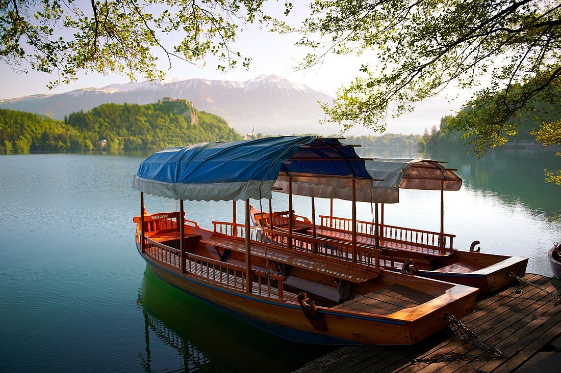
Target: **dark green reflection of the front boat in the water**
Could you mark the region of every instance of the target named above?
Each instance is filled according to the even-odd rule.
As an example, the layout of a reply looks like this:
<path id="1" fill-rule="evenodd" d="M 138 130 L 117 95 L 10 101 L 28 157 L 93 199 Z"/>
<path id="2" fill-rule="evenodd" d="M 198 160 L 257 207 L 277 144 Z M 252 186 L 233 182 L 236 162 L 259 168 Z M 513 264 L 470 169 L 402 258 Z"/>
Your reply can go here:
<path id="1" fill-rule="evenodd" d="M 140 365 L 153 371 L 293 371 L 333 347 L 297 344 L 252 327 L 169 285 L 149 268 L 137 304 L 144 316 Z"/>

